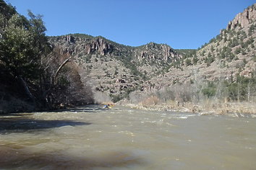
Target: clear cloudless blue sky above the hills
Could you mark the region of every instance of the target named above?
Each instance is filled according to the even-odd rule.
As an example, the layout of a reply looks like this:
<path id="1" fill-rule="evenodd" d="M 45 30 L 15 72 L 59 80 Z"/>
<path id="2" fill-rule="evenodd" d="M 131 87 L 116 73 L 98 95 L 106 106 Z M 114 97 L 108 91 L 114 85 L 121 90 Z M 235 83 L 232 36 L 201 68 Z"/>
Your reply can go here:
<path id="1" fill-rule="evenodd" d="M 46 35 L 85 33 L 138 46 L 198 48 L 255 0 L 5 0 L 42 14 Z"/>

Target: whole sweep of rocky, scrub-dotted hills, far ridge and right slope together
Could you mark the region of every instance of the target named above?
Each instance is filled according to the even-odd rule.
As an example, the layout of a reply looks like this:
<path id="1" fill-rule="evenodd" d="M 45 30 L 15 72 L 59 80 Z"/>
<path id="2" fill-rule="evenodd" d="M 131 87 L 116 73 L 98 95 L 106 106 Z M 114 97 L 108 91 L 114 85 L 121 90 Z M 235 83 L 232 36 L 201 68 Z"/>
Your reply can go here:
<path id="1" fill-rule="evenodd" d="M 104 37 L 82 34 L 49 37 L 49 40 L 85 68 L 82 74 L 95 91 L 109 95 L 114 102 L 129 99 L 132 91 L 136 94 L 133 98 L 139 102 L 139 96 L 150 91 L 176 86 L 186 91 L 184 86 L 197 84 L 192 88 L 195 96 L 198 90 L 207 88 L 210 81 L 227 81 L 229 87 L 239 78 L 254 77 L 255 8 L 254 4 L 237 14 L 226 29 L 198 50 L 174 50 L 154 42 L 130 47 Z M 254 88 L 251 96 L 252 90 Z"/>

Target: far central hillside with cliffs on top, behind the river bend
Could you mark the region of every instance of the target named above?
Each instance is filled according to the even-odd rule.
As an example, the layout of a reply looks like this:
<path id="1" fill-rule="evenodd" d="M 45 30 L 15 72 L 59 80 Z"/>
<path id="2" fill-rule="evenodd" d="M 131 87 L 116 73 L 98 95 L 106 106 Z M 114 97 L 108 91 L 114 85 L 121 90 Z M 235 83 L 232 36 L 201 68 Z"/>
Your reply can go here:
<path id="1" fill-rule="evenodd" d="M 131 91 L 143 90 L 149 79 L 182 58 L 168 45 L 154 42 L 130 47 L 81 34 L 49 37 L 49 42 L 72 55 L 95 91 L 104 92 L 114 102 L 129 97 Z"/>

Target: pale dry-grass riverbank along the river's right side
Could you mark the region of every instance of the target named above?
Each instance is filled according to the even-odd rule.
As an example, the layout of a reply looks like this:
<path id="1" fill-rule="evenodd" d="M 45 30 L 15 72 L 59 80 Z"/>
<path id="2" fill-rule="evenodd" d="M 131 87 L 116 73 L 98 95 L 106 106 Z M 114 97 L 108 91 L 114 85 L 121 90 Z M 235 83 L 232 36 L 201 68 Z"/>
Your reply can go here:
<path id="1" fill-rule="evenodd" d="M 161 104 L 124 104 L 126 107 L 145 110 L 191 112 L 200 115 L 228 115 L 249 114 L 256 115 L 256 104 L 254 102 L 213 102 L 205 100 L 201 103 L 169 101 Z"/>

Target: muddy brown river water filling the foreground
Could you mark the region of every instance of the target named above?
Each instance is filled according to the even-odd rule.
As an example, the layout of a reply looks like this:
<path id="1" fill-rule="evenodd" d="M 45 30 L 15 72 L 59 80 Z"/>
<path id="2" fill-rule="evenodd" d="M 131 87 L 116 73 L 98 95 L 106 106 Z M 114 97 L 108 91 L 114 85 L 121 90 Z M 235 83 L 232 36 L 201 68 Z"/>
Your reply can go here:
<path id="1" fill-rule="evenodd" d="M 0 116 L 0 169 L 256 169 L 256 118 L 100 105 Z"/>

